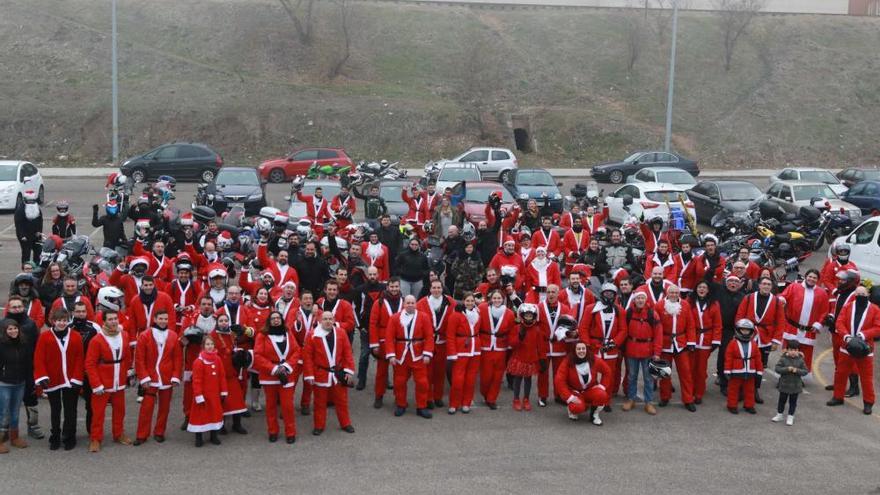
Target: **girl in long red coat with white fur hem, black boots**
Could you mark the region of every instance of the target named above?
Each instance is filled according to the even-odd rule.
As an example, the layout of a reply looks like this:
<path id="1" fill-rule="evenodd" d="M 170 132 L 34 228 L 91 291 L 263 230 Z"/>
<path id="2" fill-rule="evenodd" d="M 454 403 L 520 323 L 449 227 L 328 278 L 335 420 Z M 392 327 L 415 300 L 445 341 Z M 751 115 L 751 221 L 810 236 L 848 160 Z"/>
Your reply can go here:
<path id="1" fill-rule="evenodd" d="M 220 445 L 217 432 L 223 427 L 222 402 L 228 392 L 223 363 L 209 336 L 204 338 L 202 352 L 193 363 L 192 384 L 193 404 L 186 430 L 196 434 L 196 447 L 205 444 L 202 433 L 206 431 L 211 432 L 211 443 Z"/>

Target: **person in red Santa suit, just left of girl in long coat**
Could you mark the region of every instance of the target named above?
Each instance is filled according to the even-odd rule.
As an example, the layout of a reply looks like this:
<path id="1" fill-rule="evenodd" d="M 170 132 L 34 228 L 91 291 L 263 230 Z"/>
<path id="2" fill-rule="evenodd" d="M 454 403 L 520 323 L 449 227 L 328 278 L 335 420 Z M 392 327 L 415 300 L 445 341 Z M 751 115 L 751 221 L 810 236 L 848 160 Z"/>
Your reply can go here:
<path id="1" fill-rule="evenodd" d="M 180 385 L 183 374 L 183 356 L 178 344 L 177 332 L 168 329 L 168 312 L 157 310 L 152 327 L 138 336 L 135 347 L 134 368 L 138 383 L 146 389 L 138 415 L 137 434 L 134 444 L 141 445 L 150 435 L 153 407 L 159 401 L 156 428 L 153 438 L 165 441 L 168 411 L 171 409 L 173 388 Z"/>

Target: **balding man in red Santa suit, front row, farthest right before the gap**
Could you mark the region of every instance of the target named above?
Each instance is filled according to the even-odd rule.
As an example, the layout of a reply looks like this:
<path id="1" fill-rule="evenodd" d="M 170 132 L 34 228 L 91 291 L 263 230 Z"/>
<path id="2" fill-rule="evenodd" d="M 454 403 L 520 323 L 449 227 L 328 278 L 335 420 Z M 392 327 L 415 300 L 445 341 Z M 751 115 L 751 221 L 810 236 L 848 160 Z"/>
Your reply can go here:
<path id="1" fill-rule="evenodd" d="M 354 433 L 348 414 L 348 387 L 354 385 L 354 356 L 348 336 L 336 325 L 333 313 L 321 314 L 321 323 L 306 338 L 302 351 L 303 380 L 315 391 L 315 417 L 312 435 L 324 432 L 327 402 L 333 401 L 339 427 Z"/>

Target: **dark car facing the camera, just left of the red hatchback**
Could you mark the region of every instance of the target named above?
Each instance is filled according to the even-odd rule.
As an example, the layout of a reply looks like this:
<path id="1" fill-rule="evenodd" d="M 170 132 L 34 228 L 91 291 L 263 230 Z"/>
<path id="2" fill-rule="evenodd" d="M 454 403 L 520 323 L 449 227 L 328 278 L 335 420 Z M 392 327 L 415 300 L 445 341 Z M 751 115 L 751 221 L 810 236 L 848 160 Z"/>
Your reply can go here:
<path id="1" fill-rule="evenodd" d="M 206 190 L 208 199 L 213 198 L 217 215 L 241 206 L 245 215 L 256 215 L 266 206 L 266 182 L 260 179 L 257 169 L 250 167 L 224 167 L 217 172 Z"/>

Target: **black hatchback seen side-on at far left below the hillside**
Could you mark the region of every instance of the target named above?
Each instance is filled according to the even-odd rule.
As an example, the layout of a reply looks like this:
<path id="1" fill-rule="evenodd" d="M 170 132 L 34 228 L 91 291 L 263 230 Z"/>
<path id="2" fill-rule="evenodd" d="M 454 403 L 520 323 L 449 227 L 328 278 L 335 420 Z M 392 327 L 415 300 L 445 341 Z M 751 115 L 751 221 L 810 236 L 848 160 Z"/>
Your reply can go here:
<path id="1" fill-rule="evenodd" d="M 223 158 L 205 144 L 168 143 L 122 162 L 119 170 L 135 182 L 170 175 L 177 180 L 211 182 Z"/>

